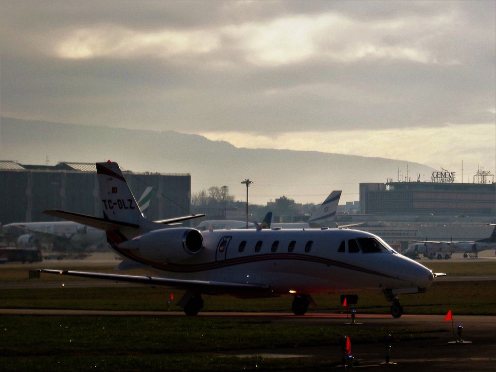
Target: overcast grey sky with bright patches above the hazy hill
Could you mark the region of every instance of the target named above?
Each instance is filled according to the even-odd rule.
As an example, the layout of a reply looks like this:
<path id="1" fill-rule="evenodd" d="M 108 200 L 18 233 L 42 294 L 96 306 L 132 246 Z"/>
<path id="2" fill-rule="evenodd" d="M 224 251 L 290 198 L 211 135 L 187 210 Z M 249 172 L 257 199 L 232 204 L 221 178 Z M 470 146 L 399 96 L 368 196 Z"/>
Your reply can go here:
<path id="1" fill-rule="evenodd" d="M 1 115 L 495 173 L 495 4 L 1 0 Z"/>

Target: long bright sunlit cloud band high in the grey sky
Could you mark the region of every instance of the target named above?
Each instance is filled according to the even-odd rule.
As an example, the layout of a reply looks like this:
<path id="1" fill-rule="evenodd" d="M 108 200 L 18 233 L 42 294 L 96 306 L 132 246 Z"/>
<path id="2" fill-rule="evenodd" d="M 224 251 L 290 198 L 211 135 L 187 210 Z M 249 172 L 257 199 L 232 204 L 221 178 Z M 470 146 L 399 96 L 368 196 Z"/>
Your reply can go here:
<path id="1" fill-rule="evenodd" d="M 242 53 L 242 60 L 261 66 L 315 59 L 342 63 L 385 59 L 453 64 L 460 62 L 454 56 L 438 55 L 424 35 L 426 30 L 430 35 L 444 34 L 444 29 L 455 23 L 454 18 L 448 13 L 365 22 L 326 12 L 195 29 L 136 30 L 103 24 L 58 30 L 48 35 L 53 40 L 47 44 L 55 44 L 55 54 L 64 59 L 168 58 L 177 54 L 194 58 L 195 54 L 226 48 L 225 44 L 221 45 L 224 40 Z M 392 33 L 401 38 L 391 38 Z"/>

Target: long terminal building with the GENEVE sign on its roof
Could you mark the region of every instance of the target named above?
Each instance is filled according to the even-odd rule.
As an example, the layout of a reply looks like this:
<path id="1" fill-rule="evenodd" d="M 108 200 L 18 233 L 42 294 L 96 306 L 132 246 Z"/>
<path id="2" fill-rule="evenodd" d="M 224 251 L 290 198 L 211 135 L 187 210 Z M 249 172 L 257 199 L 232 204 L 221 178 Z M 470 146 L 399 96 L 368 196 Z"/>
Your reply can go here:
<path id="1" fill-rule="evenodd" d="M 431 182 L 360 184 L 360 214 L 341 215 L 341 223 L 363 222 L 398 249 L 415 241 L 473 241 L 491 236 L 496 223 L 496 184 L 478 171 L 474 182 L 455 183 L 454 172 L 434 172 Z M 491 179 L 492 177 L 492 179 Z"/>

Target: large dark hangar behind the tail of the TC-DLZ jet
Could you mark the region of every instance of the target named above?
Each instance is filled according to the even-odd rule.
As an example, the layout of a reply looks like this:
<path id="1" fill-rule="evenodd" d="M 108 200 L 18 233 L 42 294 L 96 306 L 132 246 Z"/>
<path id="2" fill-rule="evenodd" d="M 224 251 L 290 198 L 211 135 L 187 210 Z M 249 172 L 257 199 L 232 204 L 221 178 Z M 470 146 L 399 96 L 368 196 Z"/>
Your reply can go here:
<path id="1" fill-rule="evenodd" d="M 136 198 L 153 186 L 146 217 L 151 220 L 189 215 L 189 174 L 123 171 Z M 95 163 L 60 162 L 55 166 L 0 161 L 0 223 L 53 221 L 46 209 L 102 215 Z"/>

